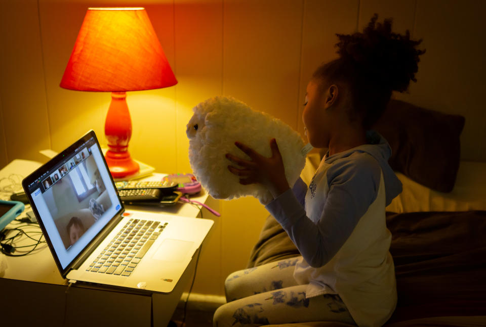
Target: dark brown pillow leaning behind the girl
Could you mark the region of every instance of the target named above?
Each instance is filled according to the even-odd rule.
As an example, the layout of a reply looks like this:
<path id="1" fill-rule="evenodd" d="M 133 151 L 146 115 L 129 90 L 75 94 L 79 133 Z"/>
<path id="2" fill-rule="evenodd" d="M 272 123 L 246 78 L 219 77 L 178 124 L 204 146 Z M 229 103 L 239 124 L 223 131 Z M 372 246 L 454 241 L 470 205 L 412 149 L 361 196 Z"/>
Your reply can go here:
<path id="1" fill-rule="evenodd" d="M 390 144 L 390 166 L 439 192 L 454 188 L 464 117 L 391 100 L 373 129 Z"/>

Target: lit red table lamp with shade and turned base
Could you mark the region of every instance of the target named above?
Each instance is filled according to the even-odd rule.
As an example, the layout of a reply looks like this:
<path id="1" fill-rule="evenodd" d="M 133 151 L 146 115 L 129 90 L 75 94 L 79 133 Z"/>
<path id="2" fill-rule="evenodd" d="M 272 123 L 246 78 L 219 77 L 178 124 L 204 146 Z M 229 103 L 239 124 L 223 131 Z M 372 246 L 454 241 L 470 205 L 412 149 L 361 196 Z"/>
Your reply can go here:
<path id="1" fill-rule="evenodd" d="M 60 86 L 111 92 L 105 121 L 110 173 L 122 178 L 139 171 L 128 152 L 132 121 L 126 91 L 177 84 L 144 8 L 89 8 Z"/>

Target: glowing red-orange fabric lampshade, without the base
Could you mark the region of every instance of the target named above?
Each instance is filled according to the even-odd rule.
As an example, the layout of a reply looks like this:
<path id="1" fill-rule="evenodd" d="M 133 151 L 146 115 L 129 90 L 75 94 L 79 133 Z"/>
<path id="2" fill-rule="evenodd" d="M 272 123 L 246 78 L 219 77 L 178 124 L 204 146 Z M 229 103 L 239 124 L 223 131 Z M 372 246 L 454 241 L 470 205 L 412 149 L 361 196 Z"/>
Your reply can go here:
<path id="1" fill-rule="evenodd" d="M 134 91 L 175 84 L 177 80 L 145 9 L 88 9 L 61 87 Z"/>

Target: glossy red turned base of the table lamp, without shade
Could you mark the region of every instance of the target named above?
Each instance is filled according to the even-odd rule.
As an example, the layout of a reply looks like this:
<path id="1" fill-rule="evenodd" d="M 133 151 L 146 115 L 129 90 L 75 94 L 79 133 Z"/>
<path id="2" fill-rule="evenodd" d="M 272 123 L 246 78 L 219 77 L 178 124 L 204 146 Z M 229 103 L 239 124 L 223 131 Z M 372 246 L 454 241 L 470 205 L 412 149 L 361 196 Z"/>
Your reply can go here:
<path id="1" fill-rule="evenodd" d="M 128 152 L 128 143 L 132 136 L 132 120 L 126 97 L 126 92 L 111 93 L 111 103 L 105 121 L 105 135 L 108 141 L 105 159 L 114 178 L 133 175 L 140 169 Z"/>

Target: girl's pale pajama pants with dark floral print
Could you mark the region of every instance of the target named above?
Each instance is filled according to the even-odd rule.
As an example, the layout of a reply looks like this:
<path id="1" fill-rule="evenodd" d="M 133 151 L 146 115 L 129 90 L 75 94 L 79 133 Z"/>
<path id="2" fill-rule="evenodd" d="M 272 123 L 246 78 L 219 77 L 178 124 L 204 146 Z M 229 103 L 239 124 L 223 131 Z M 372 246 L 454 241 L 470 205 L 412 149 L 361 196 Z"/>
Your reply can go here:
<path id="1" fill-rule="evenodd" d="M 339 295 L 305 297 L 307 285 L 298 285 L 294 278 L 298 259 L 275 261 L 230 274 L 225 282 L 228 303 L 216 310 L 214 327 L 307 321 L 355 324 Z"/>

